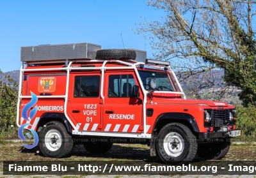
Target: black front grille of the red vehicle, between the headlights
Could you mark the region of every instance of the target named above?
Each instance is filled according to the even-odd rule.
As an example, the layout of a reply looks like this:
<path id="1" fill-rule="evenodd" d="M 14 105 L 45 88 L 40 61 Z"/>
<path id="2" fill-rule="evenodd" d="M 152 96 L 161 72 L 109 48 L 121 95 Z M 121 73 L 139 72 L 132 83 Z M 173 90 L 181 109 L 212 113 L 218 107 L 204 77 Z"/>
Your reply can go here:
<path id="1" fill-rule="evenodd" d="M 228 124 L 229 110 L 212 110 L 212 126 L 222 127 Z"/>

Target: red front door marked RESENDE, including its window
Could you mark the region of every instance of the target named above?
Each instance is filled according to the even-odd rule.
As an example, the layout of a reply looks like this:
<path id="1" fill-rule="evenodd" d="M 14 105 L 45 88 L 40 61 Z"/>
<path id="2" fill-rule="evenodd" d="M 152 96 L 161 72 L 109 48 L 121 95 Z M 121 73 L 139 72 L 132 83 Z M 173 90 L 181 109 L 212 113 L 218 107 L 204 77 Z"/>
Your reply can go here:
<path id="1" fill-rule="evenodd" d="M 143 105 L 131 97 L 133 85 L 138 85 L 133 72 L 106 73 L 102 131 L 141 133 Z"/>

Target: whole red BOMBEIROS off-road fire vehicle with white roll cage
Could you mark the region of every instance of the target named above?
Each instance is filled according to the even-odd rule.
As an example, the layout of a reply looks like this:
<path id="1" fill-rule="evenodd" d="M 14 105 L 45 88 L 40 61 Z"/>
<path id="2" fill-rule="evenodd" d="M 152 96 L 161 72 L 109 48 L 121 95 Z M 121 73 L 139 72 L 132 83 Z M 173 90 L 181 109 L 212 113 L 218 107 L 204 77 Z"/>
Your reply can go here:
<path id="1" fill-rule="evenodd" d="M 187 100 L 170 63 L 134 49 L 101 50 L 74 43 L 21 48 L 17 125 L 31 125 L 48 157 L 73 145 L 103 154 L 113 143 L 150 146 L 165 163 L 221 159 L 236 128 L 236 109 L 221 101 Z M 20 111 L 38 98 L 35 117 Z M 28 113 L 29 113 L 28 111 Z M 79 142 L 80 141 L 80 142 Z"/>

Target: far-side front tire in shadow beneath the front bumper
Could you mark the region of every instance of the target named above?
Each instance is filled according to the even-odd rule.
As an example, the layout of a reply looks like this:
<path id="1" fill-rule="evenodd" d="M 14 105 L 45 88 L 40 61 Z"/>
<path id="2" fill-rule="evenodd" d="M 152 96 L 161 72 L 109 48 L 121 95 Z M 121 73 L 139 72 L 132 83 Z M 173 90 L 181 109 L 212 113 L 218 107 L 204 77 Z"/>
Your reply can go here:
<path id="1" fill-rule="evenodd" d="M 198 144 L 197 154 L 203 159 L 221 159 L 226 156 L 230 148 L 230 142 L 221 139 L 220 142 Z"/>

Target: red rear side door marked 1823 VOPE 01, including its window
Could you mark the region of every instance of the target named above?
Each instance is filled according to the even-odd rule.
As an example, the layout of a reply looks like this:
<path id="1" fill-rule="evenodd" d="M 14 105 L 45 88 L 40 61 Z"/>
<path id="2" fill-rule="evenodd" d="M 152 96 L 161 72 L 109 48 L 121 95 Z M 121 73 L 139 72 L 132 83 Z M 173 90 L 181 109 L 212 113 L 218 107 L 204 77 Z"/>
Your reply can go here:
<path id="1" fill-rule="evenodd" d="M 73 74 L 68 116 L 77 130 L 100 131 L 100 75 Z"/>

